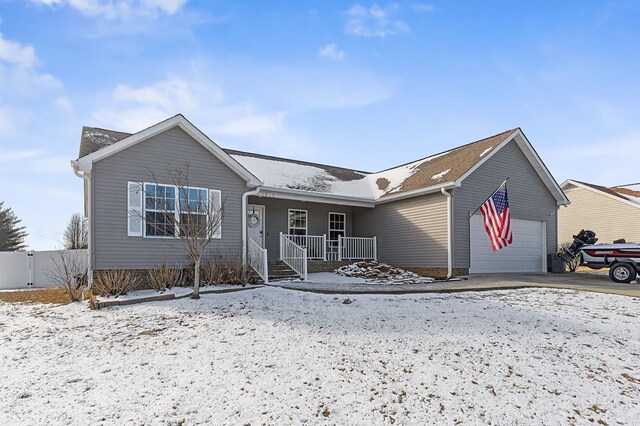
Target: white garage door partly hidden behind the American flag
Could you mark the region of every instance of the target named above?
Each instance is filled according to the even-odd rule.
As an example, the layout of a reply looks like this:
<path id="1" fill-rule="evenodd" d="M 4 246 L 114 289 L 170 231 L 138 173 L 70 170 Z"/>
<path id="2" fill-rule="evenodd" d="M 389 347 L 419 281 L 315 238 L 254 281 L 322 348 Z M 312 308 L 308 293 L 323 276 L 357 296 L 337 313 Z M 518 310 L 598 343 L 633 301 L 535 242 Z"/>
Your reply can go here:
<path id="1" fill-rule="evenodd" d="M 482 225 L 482 215 L 471 218 L 469 272 L 546 272 L 546 229 L 544 222 L 511 219 L 513 243 L 496 252 Z"/>

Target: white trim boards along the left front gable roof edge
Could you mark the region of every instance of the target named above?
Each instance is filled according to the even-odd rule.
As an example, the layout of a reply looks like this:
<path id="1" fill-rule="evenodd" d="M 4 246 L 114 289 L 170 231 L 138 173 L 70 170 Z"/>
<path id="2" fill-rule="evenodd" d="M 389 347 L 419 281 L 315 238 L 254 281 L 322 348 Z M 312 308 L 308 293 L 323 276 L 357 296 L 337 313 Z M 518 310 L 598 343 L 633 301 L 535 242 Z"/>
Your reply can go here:
<path id="1" fill-rule="evenodd" d="M 132 145 L 147 140 L 173 127 L 179 127 L 185 133 L 195 139 L 209 152 L 211 152 L 216 158 L 222 161 L 227 167 L 229 167 L 244 180 L 246 180 L 249 186 L 256 187 L 262 185 L 262 182 L 257 177 L 255 177 L 249 170 L 244 168 L 240 163 L 233 159 L 233 157 L 224 152 L 222 148 L 220 148 L 215 142 L 209 139 L 207 135 L 202 133 L 200 129 L 194 126 L 182 114 L 175 115 L 171 118 L 161 121 L 160 123 L 154 124 L 151 127 L 147 127 L 146 129 L 141 130 L 138 133 L 134 133 L 133 135 L 128 136 L 121 141 L 114 143 L 113 145 L 95 151 L 89 155 L 85 155 L 84 157 L 76 160 L 74 163 L 80 171 L 90 171 L 93 167 L 94 162 L 100 161 L 103 158 L 123 151 Z"/>

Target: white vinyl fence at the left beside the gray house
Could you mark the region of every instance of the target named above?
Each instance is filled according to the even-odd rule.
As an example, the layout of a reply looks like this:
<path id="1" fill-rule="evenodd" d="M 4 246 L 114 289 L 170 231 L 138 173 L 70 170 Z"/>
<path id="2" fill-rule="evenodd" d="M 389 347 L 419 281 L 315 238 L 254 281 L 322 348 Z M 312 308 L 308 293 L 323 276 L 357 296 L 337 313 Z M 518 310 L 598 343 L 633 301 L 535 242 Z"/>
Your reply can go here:
<path id="1" fill-rule="evenodd" d="M 0 290 L 56 285 L 49 276 L 60 263 L 61 252 L 88 264 L 87 250 L 0 252 Z"/>

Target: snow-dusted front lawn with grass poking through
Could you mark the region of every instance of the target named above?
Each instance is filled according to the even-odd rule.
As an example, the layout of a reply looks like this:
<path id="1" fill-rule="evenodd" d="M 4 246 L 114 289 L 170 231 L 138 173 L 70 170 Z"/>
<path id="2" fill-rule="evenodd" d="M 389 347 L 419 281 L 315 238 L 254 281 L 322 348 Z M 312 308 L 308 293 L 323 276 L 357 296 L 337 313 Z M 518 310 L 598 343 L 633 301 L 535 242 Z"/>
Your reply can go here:
<path id="1" fill-rule="evenodd" d="M 344 302 L 262 288 L 101 311 L 0 304 L 0 418 L 610 425 L 640 418 L 638 299 L 530 289 Z"/>

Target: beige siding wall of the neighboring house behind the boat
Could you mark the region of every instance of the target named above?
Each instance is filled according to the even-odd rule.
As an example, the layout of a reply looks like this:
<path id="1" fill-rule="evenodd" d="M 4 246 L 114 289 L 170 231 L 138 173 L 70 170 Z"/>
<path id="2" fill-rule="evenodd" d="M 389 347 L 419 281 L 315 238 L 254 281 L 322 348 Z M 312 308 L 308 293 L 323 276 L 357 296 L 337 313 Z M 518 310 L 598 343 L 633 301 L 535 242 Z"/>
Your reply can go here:
<path id="1" fill-rule="evenodd" d="M 558 244 L 573 241 L 581 229 L 596 233 L 599 243 L 624 238 L 640 242 L 640 208 L 597 192 L 575 188 L 565 191 L 571 201 L 558 212 Z"/>

